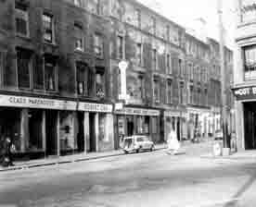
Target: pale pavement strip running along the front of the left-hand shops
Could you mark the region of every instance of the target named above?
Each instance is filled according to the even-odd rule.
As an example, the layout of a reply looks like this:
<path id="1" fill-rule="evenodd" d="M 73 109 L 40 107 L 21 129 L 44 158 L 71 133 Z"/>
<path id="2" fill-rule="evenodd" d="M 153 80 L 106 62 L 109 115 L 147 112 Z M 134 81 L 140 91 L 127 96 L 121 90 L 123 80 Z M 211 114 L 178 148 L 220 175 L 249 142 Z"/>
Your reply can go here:
<path id="1" fill-rule="evenodd" d="M 155 150 L 162 150 L 166 148 L 166 144 L 156 144 Z M 88 160 L 102 159 L 106 157 L 121 156 L 124 155 L 122 150 L 109 151 L 109 152 L 90 152 L 90 153 L 78 153 L 67 156 L 56 156 L 49 157 L 45 159 L 37 159 L 31 161 L 17 161 L 14 162 L 14 166 L 3 167 L 0 166 L 0 172 L 22 170 L 27 168 L 40 167 L 45 165 L 54 165 L 54 164 L 69 164 L 77 163 Z"/>

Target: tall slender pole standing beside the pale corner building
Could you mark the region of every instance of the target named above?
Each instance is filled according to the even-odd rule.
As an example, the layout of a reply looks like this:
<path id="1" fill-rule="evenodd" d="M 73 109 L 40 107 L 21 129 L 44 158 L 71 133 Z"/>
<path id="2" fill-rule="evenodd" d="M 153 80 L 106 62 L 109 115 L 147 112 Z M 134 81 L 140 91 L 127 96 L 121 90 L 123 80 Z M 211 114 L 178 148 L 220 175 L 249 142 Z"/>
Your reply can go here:
<path id="1" fill-rule="evenodd" d="M 226 83 L 224 68 L 224 25 L 223 25 L 223 5 L 222 0 L 217 0 L 220 32 L 220 61 L 221 61 L 221 88 L 222 88 L 222 127 L 224 136 L 224 151 L 229 148 L 227 138 L 227 111 L 226 111 Z M 228 149 L 229 151 L 229 149 Z M 225 151 L 226 152 L 226 151 Z M 228 152 L 229 153 L 229 152 Z"/>

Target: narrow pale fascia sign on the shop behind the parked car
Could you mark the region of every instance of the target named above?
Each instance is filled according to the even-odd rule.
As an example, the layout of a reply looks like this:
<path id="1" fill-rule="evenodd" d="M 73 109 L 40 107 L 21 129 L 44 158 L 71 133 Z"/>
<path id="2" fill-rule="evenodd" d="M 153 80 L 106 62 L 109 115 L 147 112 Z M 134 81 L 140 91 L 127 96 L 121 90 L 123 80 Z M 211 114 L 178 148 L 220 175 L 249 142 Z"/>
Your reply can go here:
<path id="1" fill-rule="evenodd" d="M 118 115 L 137 115 L 137 116 L 160 116 L 160 111 L 153 109 L 142 109 L 142 108 L 123 108 L 116 110 Z"/>

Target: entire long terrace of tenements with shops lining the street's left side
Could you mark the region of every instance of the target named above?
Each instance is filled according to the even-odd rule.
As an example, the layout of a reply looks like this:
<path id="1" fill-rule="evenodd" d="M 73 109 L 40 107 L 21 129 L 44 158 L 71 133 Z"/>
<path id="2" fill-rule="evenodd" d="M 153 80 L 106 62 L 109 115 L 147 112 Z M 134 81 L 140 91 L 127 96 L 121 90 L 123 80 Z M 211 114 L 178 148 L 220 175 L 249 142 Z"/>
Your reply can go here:
<path id="1" fill-rule="evenodd" d="M 190 140 L 220 126 L 218 43 L 147 6 L 10 0 L 0 17 L 0 134 L 17 156 L 109 151 L 134 134 L 158 143 L 171 128 Z"/>

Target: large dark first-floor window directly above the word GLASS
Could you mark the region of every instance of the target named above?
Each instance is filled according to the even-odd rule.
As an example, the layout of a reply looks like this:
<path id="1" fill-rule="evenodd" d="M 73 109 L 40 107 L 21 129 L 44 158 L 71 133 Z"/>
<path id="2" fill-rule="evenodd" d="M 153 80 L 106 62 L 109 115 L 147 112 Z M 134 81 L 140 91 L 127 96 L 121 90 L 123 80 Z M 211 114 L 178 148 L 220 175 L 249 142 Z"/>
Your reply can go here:
<path id="1" fill-rule="evenodd" d="M 31 55 L 24 49 L 17 49 L 18 86 L 31 88 Z"/>

